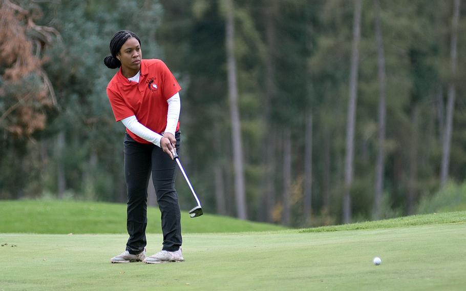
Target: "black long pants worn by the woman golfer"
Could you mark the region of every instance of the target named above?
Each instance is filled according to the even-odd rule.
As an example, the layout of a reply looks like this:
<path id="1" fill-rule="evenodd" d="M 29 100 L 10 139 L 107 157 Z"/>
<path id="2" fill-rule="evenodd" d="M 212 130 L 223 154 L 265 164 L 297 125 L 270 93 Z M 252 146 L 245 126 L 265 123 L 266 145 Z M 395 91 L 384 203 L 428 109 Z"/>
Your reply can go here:
<path id="1" fill-rule="evenodd" d="M 180 150 L 180 132 L 175 133 L 176 150 Z M 178 251 L 181 246 L 181 213 L 175 190 L 176 161 L 154 144 L 143 144 L 124 138 L 124 178 L 128 192 L 128 217 L 126 227 L 130 238 L 126 251 L 139 254 L 147 243 L 147 185 L 152 171 L 152 181 L 157 202 L 162 213 L 163 250 Z"/>

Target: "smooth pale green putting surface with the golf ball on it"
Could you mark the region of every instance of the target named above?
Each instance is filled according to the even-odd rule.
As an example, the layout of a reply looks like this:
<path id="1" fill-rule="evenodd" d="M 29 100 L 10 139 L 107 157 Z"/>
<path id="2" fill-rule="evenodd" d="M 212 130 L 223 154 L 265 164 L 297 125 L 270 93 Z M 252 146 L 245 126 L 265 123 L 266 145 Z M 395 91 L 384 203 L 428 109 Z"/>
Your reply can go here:
<path id="1" fill-rule="evenodd" d="M 202 218 L 198 218 L 202 223 Z M 185 234 L 185 262 L 111 264 L 126 235 L 0 234 L 0 290 L 464 290 L 466 223 Z M 148 235 L 148 252 L 161 235 Z M 10 245 L 16 245 L 11 247 Z M 374 266 L 379 256 L 382 264 Z"/>

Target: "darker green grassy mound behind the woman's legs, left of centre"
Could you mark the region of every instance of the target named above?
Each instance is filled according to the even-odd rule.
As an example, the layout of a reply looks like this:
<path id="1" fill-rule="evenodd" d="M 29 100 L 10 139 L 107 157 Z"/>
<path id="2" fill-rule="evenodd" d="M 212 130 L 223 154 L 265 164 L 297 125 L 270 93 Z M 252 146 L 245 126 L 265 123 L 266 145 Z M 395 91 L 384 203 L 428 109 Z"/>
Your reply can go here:
<path id="1" fill-rule="evenodd" d="M 160 211 L 147 209 L 147 233 L 161 233 Z M 276 231 L 278 225 L 204 214 L 181 213 L 183 233 Z M 77 201 L 0 201 L 0 233 L 121 234 L 126 232 L 126 205 Z"/>

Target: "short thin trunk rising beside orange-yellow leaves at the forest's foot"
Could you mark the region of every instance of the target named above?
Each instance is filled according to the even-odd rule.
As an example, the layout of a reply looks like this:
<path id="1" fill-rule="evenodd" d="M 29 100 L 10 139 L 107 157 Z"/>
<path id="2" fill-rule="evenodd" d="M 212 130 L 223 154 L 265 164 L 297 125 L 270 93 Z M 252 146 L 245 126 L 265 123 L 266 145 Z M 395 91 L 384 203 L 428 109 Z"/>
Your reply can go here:
<path id="1" fill-rule="evenodd" d="M 283 224 L 291 222 L 291 134 L 285 129 L 283 135 Z"/>

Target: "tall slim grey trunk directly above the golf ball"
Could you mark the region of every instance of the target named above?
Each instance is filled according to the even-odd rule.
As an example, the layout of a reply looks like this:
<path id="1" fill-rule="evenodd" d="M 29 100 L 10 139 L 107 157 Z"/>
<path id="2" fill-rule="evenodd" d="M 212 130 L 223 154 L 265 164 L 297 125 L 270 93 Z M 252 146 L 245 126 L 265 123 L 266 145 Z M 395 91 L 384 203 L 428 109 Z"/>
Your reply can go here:
<path id="1" fill-rule="evenodd" d="M 380 27 L 380 4 L 374 0 L 375 7 L 375 38 L 377 40 L 377 57 L 378 57 L 378 80 L 379 80 L 379 101 L 378 101 L 378 152 L 375 166 L 375 199 L 374 199 L 374 218 L 380 218 L 380 203 L 384 191 L 384 173 L 385 173 L 385 116 L 386 116 L 386 86 L 385 86 L 385 55 L 382 38 L 382 28 Z"/>

